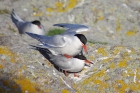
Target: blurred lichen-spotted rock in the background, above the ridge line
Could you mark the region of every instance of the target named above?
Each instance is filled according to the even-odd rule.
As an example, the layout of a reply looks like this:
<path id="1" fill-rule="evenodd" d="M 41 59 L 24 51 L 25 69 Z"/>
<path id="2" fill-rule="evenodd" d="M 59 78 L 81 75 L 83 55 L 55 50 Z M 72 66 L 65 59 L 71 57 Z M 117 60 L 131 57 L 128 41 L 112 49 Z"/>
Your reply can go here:
<path id="1" fill-rule="evenodd" d="M 92 42 L 140 45 L 139 0 L 0 0 L 0 34 L 6 26 L 17 32 L 9 15 L 12 9 L 24 20 L 40 20 L 46 33 L 56 23 L 84 24 Z"/>

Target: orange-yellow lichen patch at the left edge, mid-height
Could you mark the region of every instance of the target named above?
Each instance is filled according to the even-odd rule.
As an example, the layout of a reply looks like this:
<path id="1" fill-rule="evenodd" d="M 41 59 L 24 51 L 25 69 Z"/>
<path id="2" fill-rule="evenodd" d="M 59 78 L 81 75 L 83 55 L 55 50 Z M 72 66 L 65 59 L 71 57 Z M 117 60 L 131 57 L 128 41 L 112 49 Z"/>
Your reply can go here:
<path id="1" fill-rule="evenodd" d="M 11 62 L 16 62 L 15 58 L 17 56 L 6 46 L 0 46 L 0 55 L 8 55 L 11 58 Z"/>

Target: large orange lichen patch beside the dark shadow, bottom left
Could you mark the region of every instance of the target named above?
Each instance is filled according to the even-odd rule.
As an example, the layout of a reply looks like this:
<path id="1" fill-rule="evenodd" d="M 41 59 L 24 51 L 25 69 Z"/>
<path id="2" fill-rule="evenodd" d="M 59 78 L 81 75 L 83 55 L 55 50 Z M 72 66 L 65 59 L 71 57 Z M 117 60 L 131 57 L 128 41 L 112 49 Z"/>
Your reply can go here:
<path id="1" fill-rule="evenodd" d="M 29 93 L 37 92 L 35 90 L 36 84 L 34 82 L 31 82 L 29 79 L 26 78 L 16 79 L 15 82 L 21 86 L 22 93 L 25 93 L 26 91 L 28 91 Z"/>

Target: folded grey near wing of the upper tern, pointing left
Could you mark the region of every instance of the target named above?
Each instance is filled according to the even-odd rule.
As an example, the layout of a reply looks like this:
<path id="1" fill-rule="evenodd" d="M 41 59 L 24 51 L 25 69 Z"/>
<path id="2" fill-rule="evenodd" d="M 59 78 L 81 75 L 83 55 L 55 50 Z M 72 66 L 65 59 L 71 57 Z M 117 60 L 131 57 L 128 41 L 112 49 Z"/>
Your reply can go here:
<path id="1" fill-rule="evenodd" d="M 43 45 L 48 47 L 64 47 L 66 45 L 64 37 L 61 35 L 44 36 L 44 35 L 37 35 L 29 32 L 26 33 L 32 38 L 40 41 Z"/>

